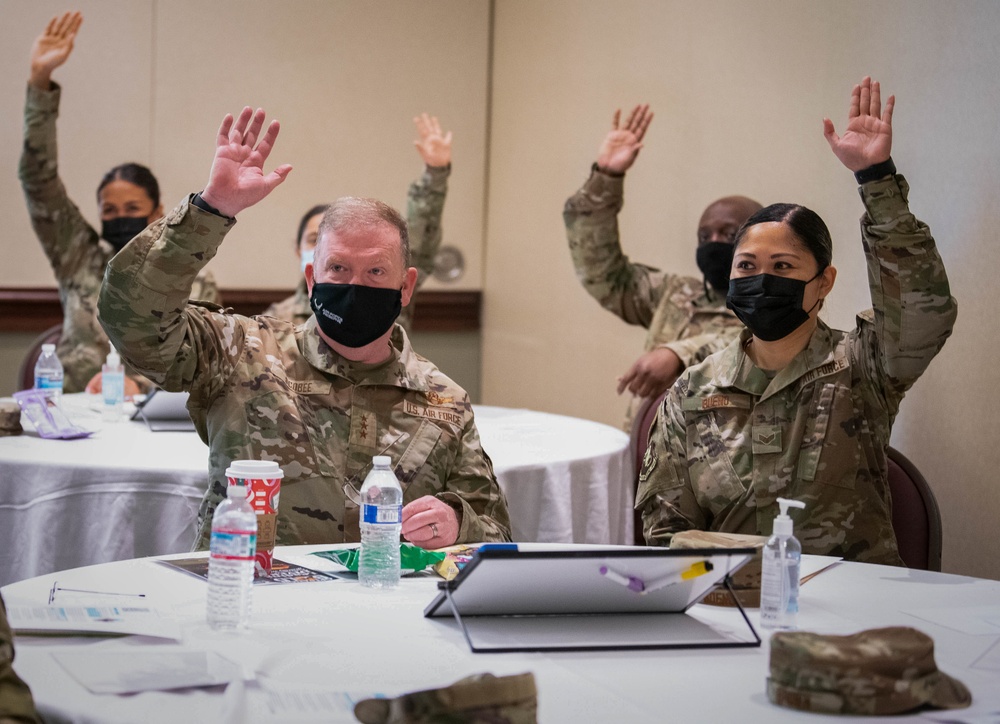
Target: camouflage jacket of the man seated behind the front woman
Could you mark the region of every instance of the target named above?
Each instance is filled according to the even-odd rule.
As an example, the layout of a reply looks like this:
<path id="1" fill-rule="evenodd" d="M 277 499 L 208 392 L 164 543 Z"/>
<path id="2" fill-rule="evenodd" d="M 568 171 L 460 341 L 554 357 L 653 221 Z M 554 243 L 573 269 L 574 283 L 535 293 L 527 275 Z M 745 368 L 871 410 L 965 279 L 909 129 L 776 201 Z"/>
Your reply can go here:
<path id="1" fill-rule="evenodd" d="M 648 330 L 646 352 L 667 347 L 689 367 L 723 349 L 743 324 L 726 308 L 725 295 L 706 292 L 702 280 L 633 264 L 622 253 L 618 212 L 624 181 L 594 168 L 566 201 L 563 220 L 577 278 L 602 307 Z M 632 401 L 626 429 L 640 403 Z"/>

